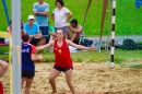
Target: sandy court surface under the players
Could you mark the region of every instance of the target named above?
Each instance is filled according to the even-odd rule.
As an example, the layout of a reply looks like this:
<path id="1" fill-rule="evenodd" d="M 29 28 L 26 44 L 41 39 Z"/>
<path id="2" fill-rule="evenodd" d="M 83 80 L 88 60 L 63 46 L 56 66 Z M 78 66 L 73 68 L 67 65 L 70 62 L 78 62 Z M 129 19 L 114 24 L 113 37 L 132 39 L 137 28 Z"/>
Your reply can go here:
<path id="1" fill-rule="evenodd" d="M 50 94 L 48 77 L 54 63 L 36 63 L 36 74 L 31 94 Z M 76 67 L 78 66 L 78 67 Z M 4 94 L 10 94 L 9 71 L 0 80 L 4 85 Z M 104 63 L 74 63 L 73 83 L 79 94 L 142 94 L 142 69 L 115 69 Z M 58 94 L 71 94 L 66 83 L 64 73 L 57 79 Z"/>

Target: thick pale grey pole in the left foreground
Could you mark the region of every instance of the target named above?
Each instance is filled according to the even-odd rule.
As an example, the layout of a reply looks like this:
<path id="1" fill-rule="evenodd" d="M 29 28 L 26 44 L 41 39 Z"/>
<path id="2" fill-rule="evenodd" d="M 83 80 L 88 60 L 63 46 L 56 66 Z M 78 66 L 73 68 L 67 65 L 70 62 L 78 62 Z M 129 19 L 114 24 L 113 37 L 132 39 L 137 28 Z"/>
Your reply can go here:
<path id="1" fill-rule="evenodd" d="M 12 94 L 21 94 L 21 0 L 12 0 Z"/>

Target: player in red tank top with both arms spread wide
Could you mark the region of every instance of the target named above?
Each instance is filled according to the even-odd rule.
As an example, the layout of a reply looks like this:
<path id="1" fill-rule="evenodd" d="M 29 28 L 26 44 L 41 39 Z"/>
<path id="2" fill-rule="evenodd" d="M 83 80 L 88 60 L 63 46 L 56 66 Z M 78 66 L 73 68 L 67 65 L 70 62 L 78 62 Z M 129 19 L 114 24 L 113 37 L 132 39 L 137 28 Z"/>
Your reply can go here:
<path id="1" fill-rule="evenodd" d="M 92 47 L 75 45 L 71 40 L 66 39 L 63 33 L 64 32 L 62 30 L 57 30 L 56 33 L 57 39 L 49 42 L 47 45 L 37 47 L 36 50 L 39 51 L 45 48 L 49 48 L 54 46 L 55 66 L 49 74 L 49 83 L 52 87 L 52 94 L 57 92 L 55 79 L 61 73 L 61 71 L 64 72 L 66 74 L 66 80 L 72 94 L 75 94 L 75 89 L 72 83 L 73 64 L 70 56 L 69 46 L 73 46 L 78 49 L 83 49 L 83 50 L 95 50 L 95 49 Z"/>

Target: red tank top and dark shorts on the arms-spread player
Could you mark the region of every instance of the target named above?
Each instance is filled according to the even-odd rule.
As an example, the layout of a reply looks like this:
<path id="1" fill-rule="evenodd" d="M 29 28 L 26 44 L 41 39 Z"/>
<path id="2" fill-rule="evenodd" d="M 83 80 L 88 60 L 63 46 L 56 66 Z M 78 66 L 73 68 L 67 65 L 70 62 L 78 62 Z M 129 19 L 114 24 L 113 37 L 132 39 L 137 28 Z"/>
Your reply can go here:
<path id="1" fill-rule="evenodd" d="M 66 39 L 63 39 L 61 47 L 58 46 L 57 39 L 55 40 L 54 52 L 56 58 L 54 68 L 56 70 L 66 72 L 69 69 L 73 69 L 70 50 Z"/>

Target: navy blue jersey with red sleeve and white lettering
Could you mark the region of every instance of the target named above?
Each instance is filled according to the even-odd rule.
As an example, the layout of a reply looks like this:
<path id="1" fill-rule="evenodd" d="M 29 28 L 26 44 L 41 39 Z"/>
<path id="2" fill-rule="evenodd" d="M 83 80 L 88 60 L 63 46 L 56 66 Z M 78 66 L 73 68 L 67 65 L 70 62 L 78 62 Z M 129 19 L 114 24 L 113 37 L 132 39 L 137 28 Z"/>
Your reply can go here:
<path id="1" fill-rule="evenodd" d="M 31 55 L 35 54 L 35 46 L 31 44 L 22 44 L 22 70 L 35 71 L 34 61 Z"/>

